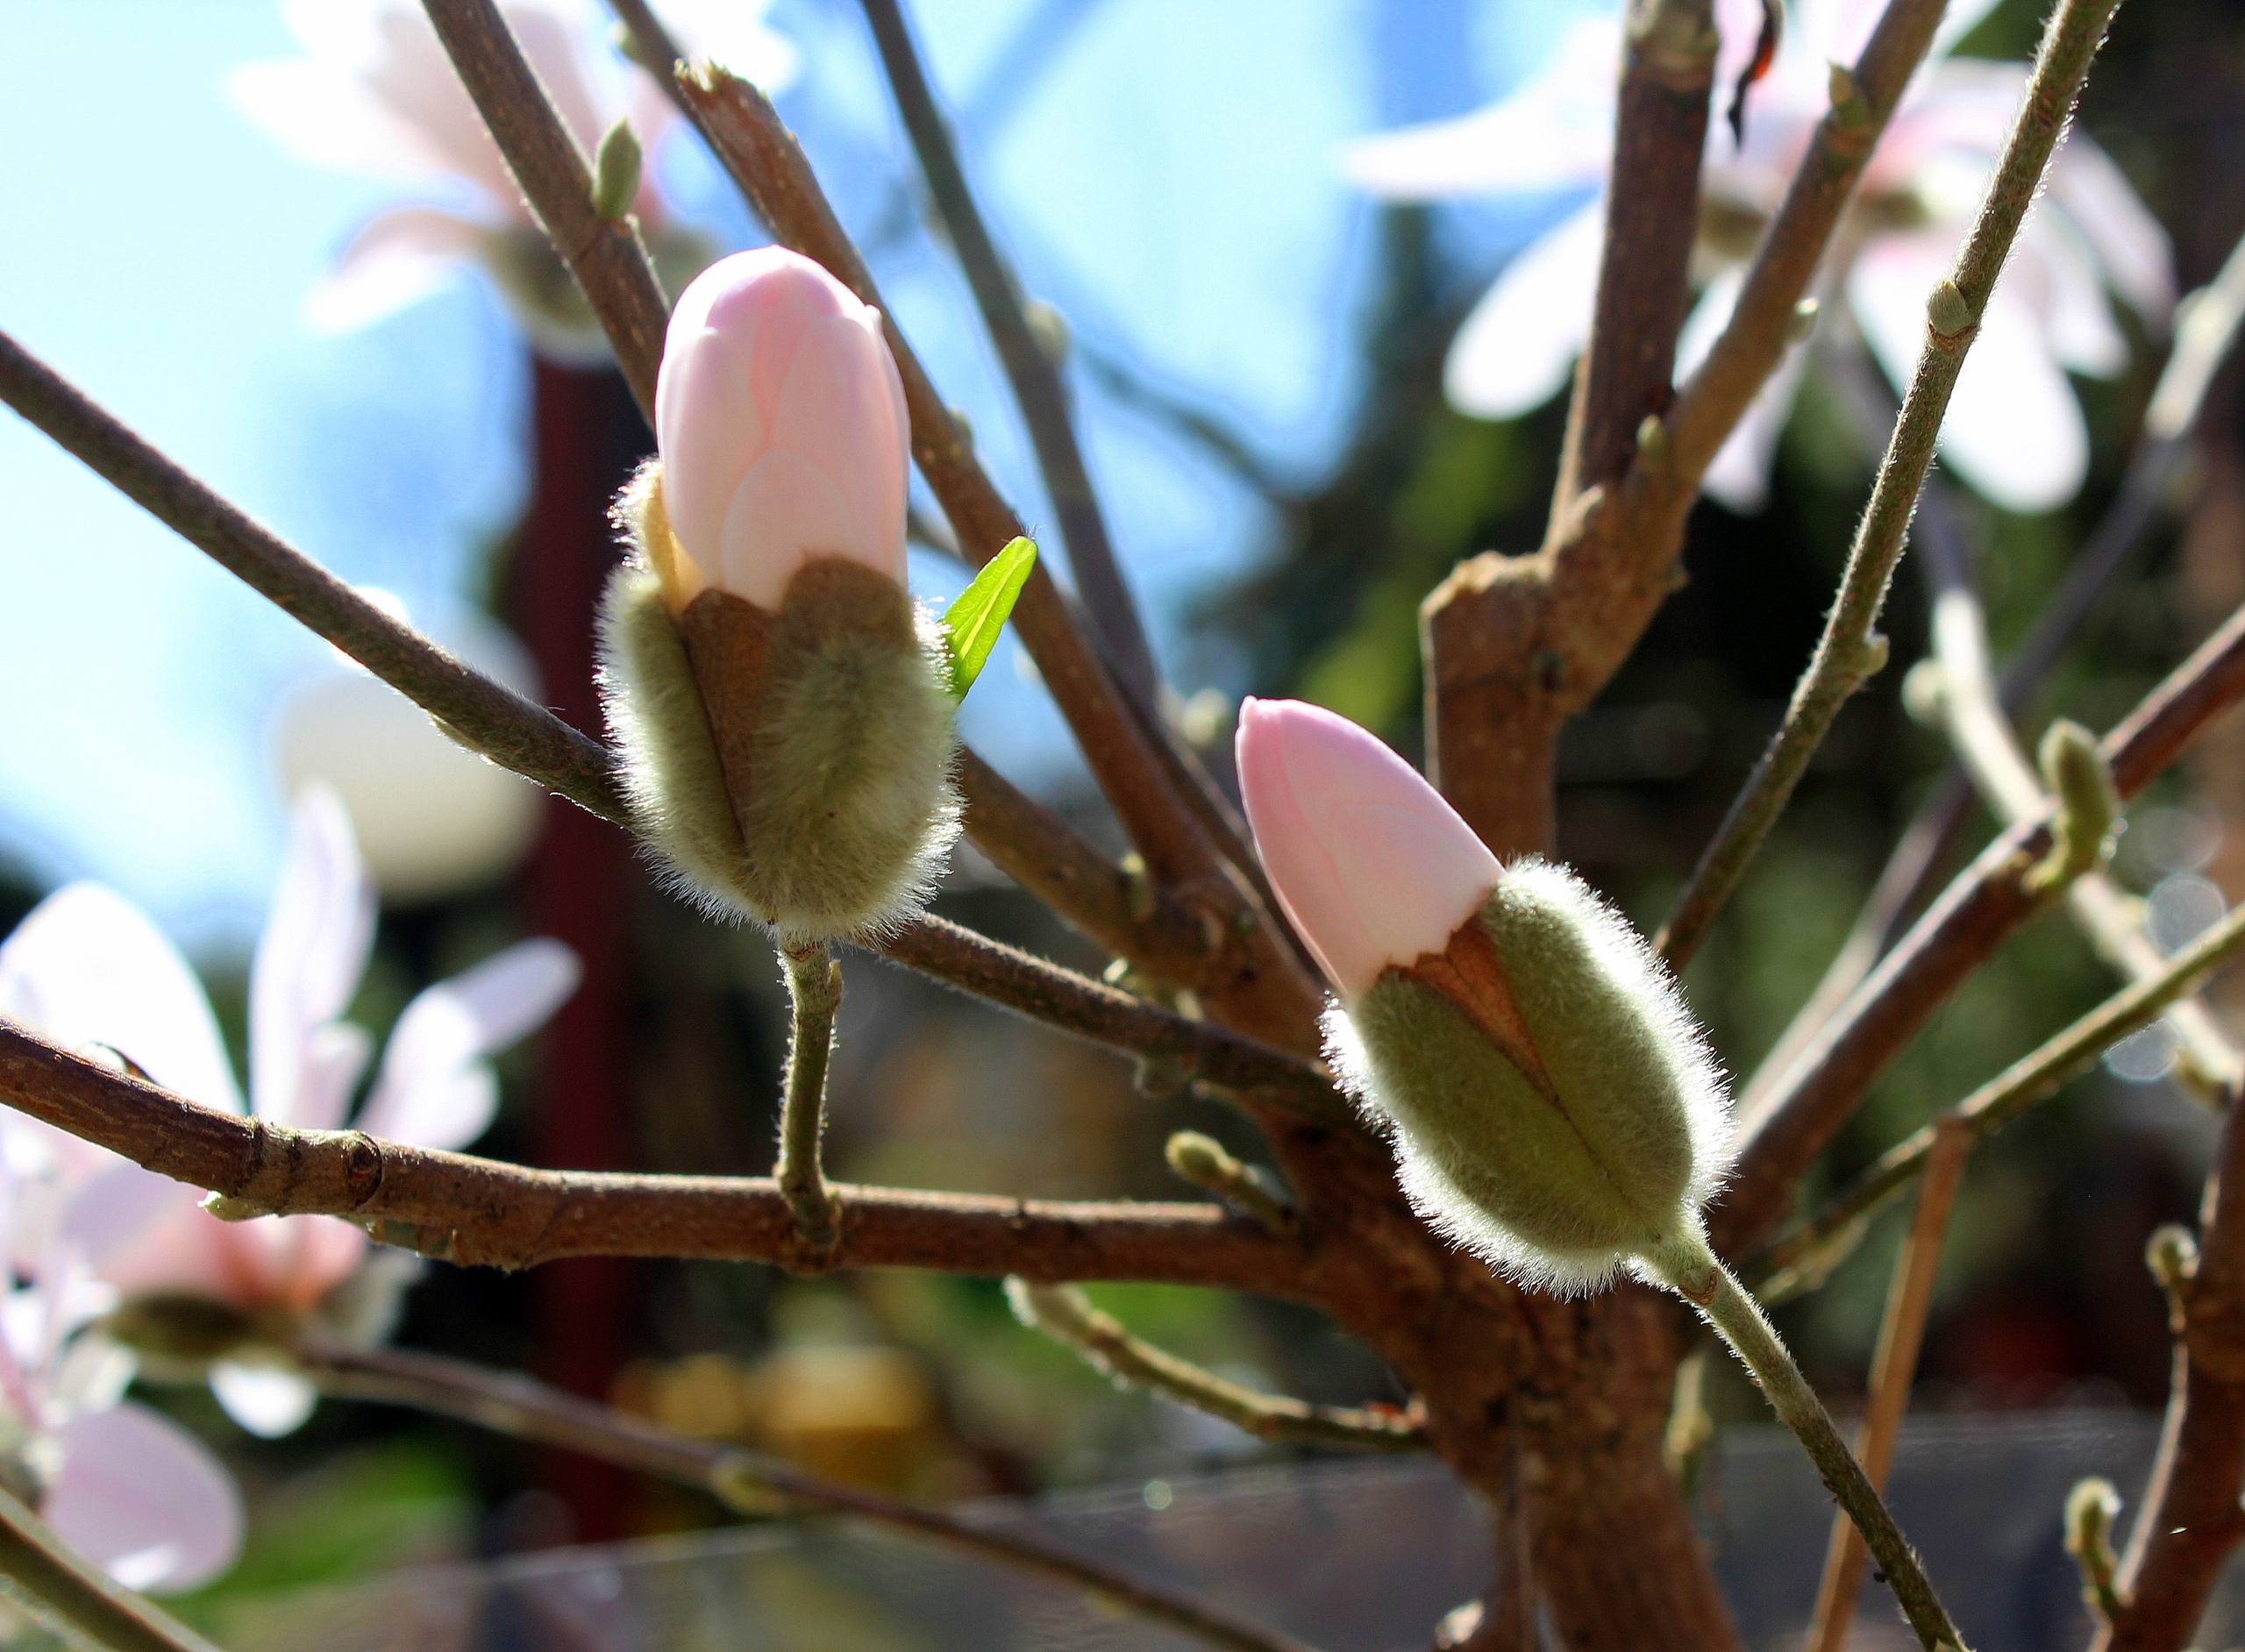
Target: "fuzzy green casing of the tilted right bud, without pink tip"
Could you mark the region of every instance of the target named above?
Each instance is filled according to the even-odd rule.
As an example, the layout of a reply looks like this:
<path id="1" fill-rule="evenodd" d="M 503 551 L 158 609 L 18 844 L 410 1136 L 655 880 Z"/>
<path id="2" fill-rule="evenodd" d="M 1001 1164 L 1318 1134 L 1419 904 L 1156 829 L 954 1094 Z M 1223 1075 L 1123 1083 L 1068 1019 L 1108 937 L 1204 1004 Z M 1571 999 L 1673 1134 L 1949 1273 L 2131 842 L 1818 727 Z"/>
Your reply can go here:
<path id="1" fill-rule="evenodd" d="M 1448 956 L 1477 1008 L 1390 970 L 1327 1019 L 1351 1093 L 1394 1125 L 1419 1214 L 1563 1293 L 1695 1239 L 1731 1156 L 1724 1082 L 1630 923 L 1524 860 Z"/>

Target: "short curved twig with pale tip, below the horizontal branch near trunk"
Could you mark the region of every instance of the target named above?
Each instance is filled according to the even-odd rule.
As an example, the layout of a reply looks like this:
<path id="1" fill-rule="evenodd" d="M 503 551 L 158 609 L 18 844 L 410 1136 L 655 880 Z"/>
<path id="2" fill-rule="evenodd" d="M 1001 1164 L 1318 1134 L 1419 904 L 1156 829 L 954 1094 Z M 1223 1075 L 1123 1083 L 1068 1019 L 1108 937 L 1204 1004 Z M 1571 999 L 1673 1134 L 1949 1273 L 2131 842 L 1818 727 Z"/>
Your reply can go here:
<path id="1" fill-rule="evenodd" d="M 1037 1327 L 1055 1342 L 1066 1342 L 1118 1385 L 1163 1394 L 1255 1439 L 1343 1446 L 1363 1452 L 1426 1450 L 1426 1430 L 1408 1412 L 1311 1405 L 1291 1394 L 1259 1394 L 1131 1336 L 1120 1320 L 1093 1309 L 1091 1300 L 1073 1286 L 1008 1279 L 1006 1295 L 1026 1324 Z"/>

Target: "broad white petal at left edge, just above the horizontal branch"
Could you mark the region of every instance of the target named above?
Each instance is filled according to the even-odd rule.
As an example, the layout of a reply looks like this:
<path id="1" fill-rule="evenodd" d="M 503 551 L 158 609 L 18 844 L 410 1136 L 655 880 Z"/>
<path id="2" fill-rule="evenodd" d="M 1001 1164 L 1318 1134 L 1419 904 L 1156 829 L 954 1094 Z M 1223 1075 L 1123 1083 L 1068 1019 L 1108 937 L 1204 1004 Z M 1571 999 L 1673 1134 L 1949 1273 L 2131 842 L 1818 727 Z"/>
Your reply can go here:
<path id="1" fill-rule="evenodd" d="M 58 889 L 0 943 L 0 1015 L 76 1050 L 108 1046 L 168 1091 L 242 1111 L 195 972 L 101 884 Z"/>

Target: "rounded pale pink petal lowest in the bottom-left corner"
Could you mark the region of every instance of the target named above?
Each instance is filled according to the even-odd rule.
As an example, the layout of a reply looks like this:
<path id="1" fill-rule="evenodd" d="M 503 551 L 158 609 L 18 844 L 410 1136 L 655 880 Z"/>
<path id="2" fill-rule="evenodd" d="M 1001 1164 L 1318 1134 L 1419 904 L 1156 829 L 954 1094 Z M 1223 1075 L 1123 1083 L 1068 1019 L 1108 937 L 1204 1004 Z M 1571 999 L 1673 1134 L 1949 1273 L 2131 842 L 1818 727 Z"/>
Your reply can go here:
<path id="1" fill-rule="evenodd" d="M 233 1477 L 191 1434 L 139 1405 L 61 1430 L 63 1466 L 40 1515 L 128 1589 L 209 1582 L 242 1547 Z"/>

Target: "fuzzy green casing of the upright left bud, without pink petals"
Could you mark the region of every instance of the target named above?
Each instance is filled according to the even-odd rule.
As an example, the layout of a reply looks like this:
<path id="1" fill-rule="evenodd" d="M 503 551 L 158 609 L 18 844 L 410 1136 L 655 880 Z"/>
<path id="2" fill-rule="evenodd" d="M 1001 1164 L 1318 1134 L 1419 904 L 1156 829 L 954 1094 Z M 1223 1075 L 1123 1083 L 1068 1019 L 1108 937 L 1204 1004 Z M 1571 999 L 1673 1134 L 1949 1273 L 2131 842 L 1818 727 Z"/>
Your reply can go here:
<path id="1" fill-rule="evenodd" d="M 819 568 L 835 563 L 806 572 Z M 790 945 L 909 920 L 959 835 L 941 640 L 902 590 L 844 575 L 835 590 L 797 577 L 761 671 L 712 689 L 730 700 L 725 754 L 656 575 L 624 566 L 602 602 L 602 700 L 640 833 L 680 893 Z M 864 604 L 889 597 L 900 613 L 873 624 Z M 712 624 L 757 622 L 730 597 L 700 602 L 714 599 L 732 608 Z"/>

